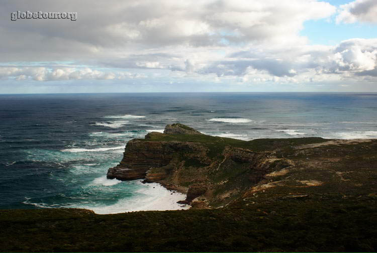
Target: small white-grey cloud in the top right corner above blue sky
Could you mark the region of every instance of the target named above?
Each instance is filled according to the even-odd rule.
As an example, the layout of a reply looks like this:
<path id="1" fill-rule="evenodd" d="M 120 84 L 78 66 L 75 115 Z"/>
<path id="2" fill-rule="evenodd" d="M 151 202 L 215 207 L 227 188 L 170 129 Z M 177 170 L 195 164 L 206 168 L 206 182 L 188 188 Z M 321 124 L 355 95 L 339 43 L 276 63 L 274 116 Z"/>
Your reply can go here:
<path id="1" fill-rule="evenodd" d="M 377 2 L 375 0 L 356 0 L 340 6 L 336 23 L 351 24 L 355 22 L 377 23 Z"/>

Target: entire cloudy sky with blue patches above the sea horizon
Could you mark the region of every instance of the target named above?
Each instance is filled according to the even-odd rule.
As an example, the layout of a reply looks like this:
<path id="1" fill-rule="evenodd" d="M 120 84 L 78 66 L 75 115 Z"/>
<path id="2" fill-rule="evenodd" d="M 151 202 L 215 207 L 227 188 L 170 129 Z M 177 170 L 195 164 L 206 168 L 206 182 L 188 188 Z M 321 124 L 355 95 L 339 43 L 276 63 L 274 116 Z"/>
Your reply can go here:
<path id="1" fill-rule="evenodd" d="M 3 0 L 0 34 L 0 93 L 377 92 L 376 0 Z"/>

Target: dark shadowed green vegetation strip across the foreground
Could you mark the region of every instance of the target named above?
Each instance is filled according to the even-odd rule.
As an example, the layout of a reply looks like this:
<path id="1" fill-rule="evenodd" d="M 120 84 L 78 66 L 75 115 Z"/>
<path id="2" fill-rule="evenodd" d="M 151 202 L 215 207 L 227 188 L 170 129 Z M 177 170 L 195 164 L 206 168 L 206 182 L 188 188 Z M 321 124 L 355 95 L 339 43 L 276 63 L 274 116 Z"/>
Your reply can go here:
<path id="1" fill-rule="evenodd" d="M 334 195 L 109 215 L 2 210 L 1 251 L 375 251 L 376 201 Z"/>

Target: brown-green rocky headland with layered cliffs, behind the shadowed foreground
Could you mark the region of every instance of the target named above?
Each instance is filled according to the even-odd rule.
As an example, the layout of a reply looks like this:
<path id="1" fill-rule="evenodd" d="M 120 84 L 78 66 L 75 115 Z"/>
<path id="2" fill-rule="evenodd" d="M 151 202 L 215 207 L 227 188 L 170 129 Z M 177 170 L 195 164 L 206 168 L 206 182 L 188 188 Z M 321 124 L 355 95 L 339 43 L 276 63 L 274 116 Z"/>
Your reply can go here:
<path id="1" fill-rule="evenodd" d="M 186 193 L 180 203 L 195 208 L 303 198 L 313 193 L 359 194 L 362 189 L 369 194 L 376 188 L 364 180 L 375 173 L 375 140 L 246 142 L 203 135 L 181 124 L 167 125 L 164 133 L 152 132 L 145 139 L 129 141 L 123 160 L 109 169 L 108 178 L 158 182 Z M 353 164 L 352 169 L 346 169 L 349 164 Z M 350 175 L 352 180 L 348 180 Z M 373 190 L 366 190 L 368 187 Z"/>

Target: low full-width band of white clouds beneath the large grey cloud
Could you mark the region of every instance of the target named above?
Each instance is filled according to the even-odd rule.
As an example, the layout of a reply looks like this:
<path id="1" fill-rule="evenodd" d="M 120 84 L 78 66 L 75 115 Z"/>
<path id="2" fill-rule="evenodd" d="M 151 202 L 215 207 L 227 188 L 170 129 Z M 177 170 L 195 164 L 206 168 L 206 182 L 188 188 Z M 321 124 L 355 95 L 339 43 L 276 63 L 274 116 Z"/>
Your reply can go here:
<path id="1" fill-rule="evenodd" d="M 189 58 L 185 58 L 189 56 Z M 150 59 L 150 61 L 147 61 Z M 121 80 L 148 78 L 142 73 L 121 71 L 133 66 L 180 72 L 179 78 L 216 75 L 218 78 L 239 78 L 242 82 L 253 80 L 298 82 L 322 81 L 326 78 L 341 80 L 376 76 L 377 39 L 351 39 L 336 46 L 297 45 L 291 48 L 264 46 L 243 48 L 216 58 L 216 53 L 176 52 L 133 55 L 130 58 L 104 61 L 105 68 L 96 67 L 0 67 L 0 78 L 37 81 L 59 80 Z M 120 71 L 114 71 L 114 68 Z M 213 78 L 213 77 L 211 77 Z M 238 80 L 238 79 L 237 79 Z"/>

